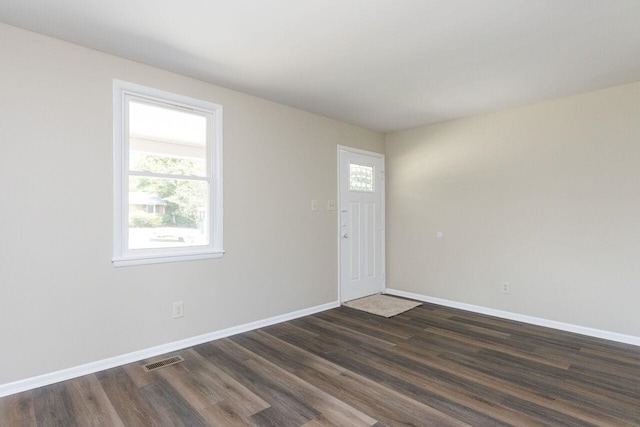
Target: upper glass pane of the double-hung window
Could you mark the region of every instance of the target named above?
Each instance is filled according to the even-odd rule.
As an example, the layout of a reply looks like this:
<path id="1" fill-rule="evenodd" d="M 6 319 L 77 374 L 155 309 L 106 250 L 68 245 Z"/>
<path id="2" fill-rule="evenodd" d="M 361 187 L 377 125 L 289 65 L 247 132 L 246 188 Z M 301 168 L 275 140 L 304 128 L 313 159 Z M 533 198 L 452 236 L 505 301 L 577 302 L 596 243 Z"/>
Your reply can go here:
<path id="1" fill-rule="evenodd" d="M 203 115 L 129 102 L 130 170 L 204 177 L 206 139 Z"/>

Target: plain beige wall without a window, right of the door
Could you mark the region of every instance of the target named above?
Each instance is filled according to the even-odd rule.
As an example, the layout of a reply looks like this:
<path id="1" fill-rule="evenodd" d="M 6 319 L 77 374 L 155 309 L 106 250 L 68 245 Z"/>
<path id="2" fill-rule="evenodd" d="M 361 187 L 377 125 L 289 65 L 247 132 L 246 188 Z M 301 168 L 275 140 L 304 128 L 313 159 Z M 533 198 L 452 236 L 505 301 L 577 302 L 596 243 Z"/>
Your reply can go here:
<path id="1" fill-rule="evenodd" d="M 390 134 L 387 176 L 389 288 L 640 336 L 640 83 Z"/>

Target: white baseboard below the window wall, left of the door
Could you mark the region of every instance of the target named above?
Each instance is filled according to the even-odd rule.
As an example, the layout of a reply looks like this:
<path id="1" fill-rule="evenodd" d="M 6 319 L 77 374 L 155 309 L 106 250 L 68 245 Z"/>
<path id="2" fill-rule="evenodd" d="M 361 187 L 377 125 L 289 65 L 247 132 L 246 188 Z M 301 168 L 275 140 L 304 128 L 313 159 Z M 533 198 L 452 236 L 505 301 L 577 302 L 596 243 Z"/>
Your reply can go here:
<path id="1" fill-rule="evenodd" d="M 38 375 L 36 377 L 27 378 L 11 383 L 0 384 L 0 397 L 54 384 L 60 381 L 70 380 L 72 378 L 81 377 L 83 375 L 93 374 L 94 372 L 115 368 L 116 366 L 126 365 L 127 363 L 137 362 L 139 360 L 148 359 L 150 357 L 159 356 L 161 354 L 170 353 L 172 351 L 182 350 L 187 347 L 192 347 L 194 345 L 203 344 L 205 342 L 229 337 L 231 335 L 240 334 L 242 332 L 264 328 L 265 326 L 275 325 L 276 323 L 286 322 L 287 320 L 297 319 L 299 317 L 319 313 L 321 311 L 329 310 L 339 306 L 340 302 L 334 301 L 327 304 L 294 311 L 292 313 L 282 314 L 280 316 L 270 317 L 264 320 L 258 320 L 244 325 L 233 326 L 231 328 L 223 329 L 217 332 L 198 335 L 196 337 L 174 341 L 144 350 L 134 351 L 133 353 L 127 353 L 120 356 L 110 357 L 108 359 L 98 360 L 96 362 L 75 366 L 73 368 L 63 369 L 61 371 Z"/>

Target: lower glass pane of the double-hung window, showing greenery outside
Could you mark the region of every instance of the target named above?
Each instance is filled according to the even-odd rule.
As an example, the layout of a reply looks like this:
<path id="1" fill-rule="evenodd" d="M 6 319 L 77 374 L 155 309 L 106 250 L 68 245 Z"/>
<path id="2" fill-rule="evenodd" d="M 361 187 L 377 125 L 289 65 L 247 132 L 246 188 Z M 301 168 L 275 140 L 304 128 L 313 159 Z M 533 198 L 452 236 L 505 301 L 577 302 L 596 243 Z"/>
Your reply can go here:
<path id="1" fill-rule="evenodd" d="M 208 245 L 209 184 L 129 177 L 129 249 Z"/>

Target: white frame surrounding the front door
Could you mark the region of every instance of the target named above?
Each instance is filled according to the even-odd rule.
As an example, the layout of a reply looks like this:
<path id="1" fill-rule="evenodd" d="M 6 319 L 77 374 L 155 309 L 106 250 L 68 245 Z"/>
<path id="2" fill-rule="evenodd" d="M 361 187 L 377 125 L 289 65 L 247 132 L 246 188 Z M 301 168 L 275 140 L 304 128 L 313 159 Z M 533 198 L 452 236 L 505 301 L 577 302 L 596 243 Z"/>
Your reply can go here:
<path id="1" fill-rule="evenodd" d="M 387 249 L 387 204 L 386 204 L 386 199 L 385 199 L 385 190 L 387 187 L 387 180 L 386 180 L 386 169 L 387 169 L 387 165 L 386 165 L 386 158 L 385 155 L 382 153 L 376 153 L 375 151 L 367 151 L 367 150 L 361 150 L 359 148 L 353 148 L 353 147 L 349 147 L 346 145 L 340 145 L 338 144 L 338 149 L 337 149 L 337 165 L 338 165 L 338 174 L 337 174 L 337 178 L 338 178 L 338 203 L 337 203 L 337 210 L 336 210 L 336 218 L 337 218 L 337 224 L 336 224 L 336 239 L 337 239 L 337 244 L 338 244 L 338 302 L 340 304 L 342 304 L 342 248 L 341 248 L 341 226 L 340 226 L 340 217 L 341 217 L 341 213 L 342 213 L 342 197 L 340 194 L 340 151 L 347 151 L 349 153 L 353 153 L 353 154 L 362 154 L 365 156 L 371 156 L 371 157 L 377 157 L 379 159 L 382 160 L 382 183 L 384 185 L 382 185 L 381 188 L 381 203 L 382 203 L 382 292 L 384 293 L 387 290 L 387 253 L 386 253 L 386 249 Z"/>

